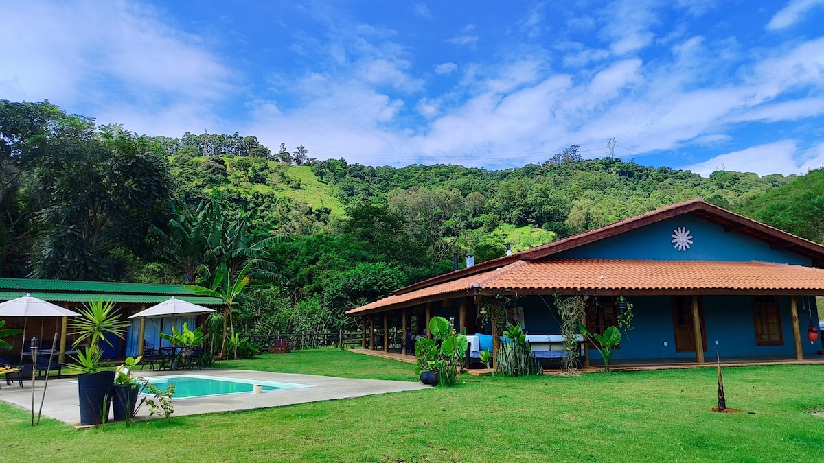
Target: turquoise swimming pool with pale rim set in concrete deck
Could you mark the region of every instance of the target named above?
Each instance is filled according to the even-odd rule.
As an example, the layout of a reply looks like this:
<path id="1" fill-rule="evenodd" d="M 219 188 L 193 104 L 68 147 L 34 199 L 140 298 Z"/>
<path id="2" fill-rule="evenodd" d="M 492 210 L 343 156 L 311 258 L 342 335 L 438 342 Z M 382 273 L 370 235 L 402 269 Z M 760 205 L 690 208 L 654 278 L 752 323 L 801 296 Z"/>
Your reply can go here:
<path id="1" fill-rule="evenodd" d="M 242 378 L 227 378 L 223 376 L 206 375 L 164 375 L 147 378 L 150 383 L 166 389 L 170 384 L 175 385 L 173 399 L 186 399 L 189 397 L 204 397 L 207 395 L 241 394 L 251 392 L 255 384 L 263 386 L 263 391 L 277 391 L 279 389 L 297 389 L 301 387 L 311 387 L 307 384 L 295 384 L 291 382 L 274 382 L 247 380 Z M 143 391 L 146 394 L 146 391 Z"/>

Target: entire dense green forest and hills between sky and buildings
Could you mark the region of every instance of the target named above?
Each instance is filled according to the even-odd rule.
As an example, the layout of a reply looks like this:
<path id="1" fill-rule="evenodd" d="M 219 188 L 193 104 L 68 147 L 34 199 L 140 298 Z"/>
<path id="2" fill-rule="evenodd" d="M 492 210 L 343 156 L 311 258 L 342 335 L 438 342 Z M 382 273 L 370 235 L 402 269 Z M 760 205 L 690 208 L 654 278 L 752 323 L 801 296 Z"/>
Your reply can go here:
<path id="1" fill-rule="evenodd" d="M 0 276 L 216 287 L 249 274 L 245 333 L 337 330 L 345 310 L 452 270 L 453 253 L 489 260 L 508 241 L 527 249 L 695 197 L 822 242 L 822 175 L 704 178 L 575 145 L 503 171 L 363 166 L 0 101 Z"/>

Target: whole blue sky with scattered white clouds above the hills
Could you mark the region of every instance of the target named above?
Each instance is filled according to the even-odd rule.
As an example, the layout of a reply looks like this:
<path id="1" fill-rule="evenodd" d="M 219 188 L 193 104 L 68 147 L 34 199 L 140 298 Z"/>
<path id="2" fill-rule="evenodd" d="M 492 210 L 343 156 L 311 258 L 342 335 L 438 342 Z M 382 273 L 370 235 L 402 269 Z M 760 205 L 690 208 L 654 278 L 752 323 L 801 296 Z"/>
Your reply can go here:
<path id="1" fill-rule="evenodd" d="M 0 98 L 368 165 L 824 164 L 824 0 L 0 0 Z"/>

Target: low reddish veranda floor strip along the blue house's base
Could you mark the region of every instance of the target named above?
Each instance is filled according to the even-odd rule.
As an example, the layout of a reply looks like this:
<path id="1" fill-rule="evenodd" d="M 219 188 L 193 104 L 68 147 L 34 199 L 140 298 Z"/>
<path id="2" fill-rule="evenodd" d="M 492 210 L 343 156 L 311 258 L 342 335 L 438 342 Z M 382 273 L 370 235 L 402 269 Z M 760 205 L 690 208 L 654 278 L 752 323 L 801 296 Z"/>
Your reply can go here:
<path id="1" fill-rule="evenodd" d="M 415 357 L 414 355 L 404 355 L 400 353 L 397 349 L 390 350 L 389 352 L 383 352 L 382 350 L 377 349 L 368 349 L 368 348 L 353 348 L 352 352 L 354 353 L 364 353 L 366 355 L 374 355 L 376 357 L 381 358 L 391 358 L 392 360 L 398 360 L 400 362 L 408 362 L 414 363 Z M 686 358 L 645 358 L 633 361 L 620 361 L 616 360 L 613 361 L 612 365 L 610 366 L 610 370 L 615 372 L 643 372 L 649 370 L 672 370 L 672 369 L 680 369 L 680 368 L 701 368 L 701 367 L 715 367 L 716 363 L 710 358 L 707 358 L 707 362 L 698 363 L 691 359 Z M 794 357 L 787 356 L 787 357 L 779 357 L 779 356 L 770 356 L 770 357 L 737 357 L 737 358 L 721 358 L 721 365 L 723 367 L 755 367 L 758 365 L 819 365 L 824 364 L 824 355 L 816 355 L 810 358 L 804 358 L 803 360 L 796 360 Z M 602 363 L 598 363 L 595 359 L 592 359 L 592 365 L 586 368 L 579 368 L 579 372 L 601 372 L 604 369 Z M 488 373 L 489 371 L 485 367 L 476 367 L 475 363 L 473 363 L 473 367 L 466 370 L 466 372 L 473 374 L 473 375 L 483 375 Z M 561 371 L 558 362 L 549 362 L 548 365 L 544 367 L 544 373 L 548 375 L 558 375 L 563 374 Z"/>

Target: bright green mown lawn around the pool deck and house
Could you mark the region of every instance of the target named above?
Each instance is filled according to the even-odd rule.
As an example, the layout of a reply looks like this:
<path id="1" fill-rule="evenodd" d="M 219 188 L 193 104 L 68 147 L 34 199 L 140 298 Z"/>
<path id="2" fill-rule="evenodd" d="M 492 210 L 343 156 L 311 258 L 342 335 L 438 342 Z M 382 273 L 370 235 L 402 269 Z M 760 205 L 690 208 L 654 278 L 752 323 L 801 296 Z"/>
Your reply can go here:
<path id="1" fill-rule="evenodd" d="M 414 380 L 412 366 L 336 350 L 227 367 Z M 7 461 L 822 461 L 824 368 L 714 368 L 525 378 L 75 431 L 0 404 Z M 2 391 L 0 391 L 2 398 Z"/>

